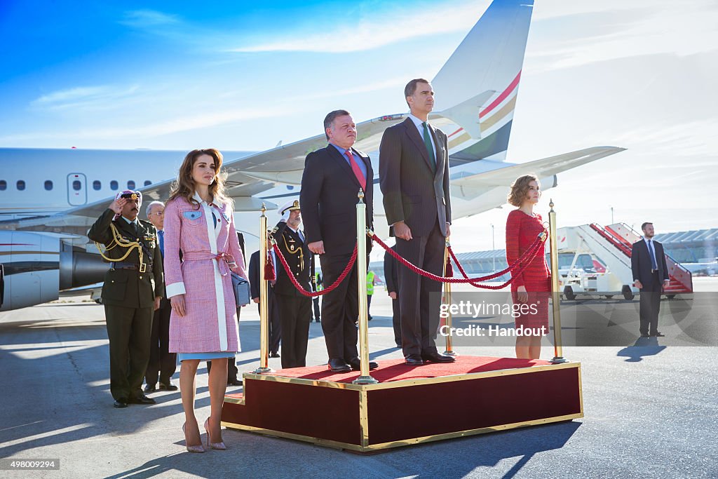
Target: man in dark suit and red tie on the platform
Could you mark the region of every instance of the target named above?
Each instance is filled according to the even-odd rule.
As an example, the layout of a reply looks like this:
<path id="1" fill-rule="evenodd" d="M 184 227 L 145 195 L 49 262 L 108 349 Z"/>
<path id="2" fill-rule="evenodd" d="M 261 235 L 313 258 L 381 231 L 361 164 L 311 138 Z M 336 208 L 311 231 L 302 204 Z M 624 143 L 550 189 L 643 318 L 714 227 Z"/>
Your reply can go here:
<path id="1" fill-rule="evenodd" d="M 356 205 L 360 188 L 364 190 L 366 224 L 373 227 L 374 171 L 369 157 L 352 148 L 357 131 L 348 111 L 327 114 L 324 128 L 329 144 L 307 155 L 299 201 L 309 250 L 322 255 L 323 281 L 329 287 L 349 263 L 357 241 Z M 359 241 L 366 241 L 368 255 L 370 239 L 364 236 Z M 365 275 L 366 271 L 362 271 L 362 280 Z M 322 299 L 322 330 L 332 371 L 360 369 L 355 327 L 359 317 L 357 278 L 355 264 L 337 289 Z M 376 368 L 376 363 L 370 363 L 370 368 Z"/>

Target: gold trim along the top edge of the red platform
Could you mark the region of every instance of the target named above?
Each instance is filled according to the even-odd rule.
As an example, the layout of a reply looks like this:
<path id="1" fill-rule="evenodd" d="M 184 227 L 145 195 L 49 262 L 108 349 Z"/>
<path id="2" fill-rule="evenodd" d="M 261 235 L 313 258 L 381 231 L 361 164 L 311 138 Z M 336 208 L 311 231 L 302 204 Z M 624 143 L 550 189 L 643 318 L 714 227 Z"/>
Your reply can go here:
<path id="1" fill-rule="evenodd" d="M 544 366 L 531 366 L 528 368 L 498 369 L 495 371 L 482 371 L 477 373 L 462 373 L 452 376 L 437 376 L 436 378 L 403 379 L 399 381 L 388 381 L 376 384 L 353 384 L 340 383 L 337 381 L 323 381 L 320 379 L 290 378 L 287 376 L 276 376 L 273 374 L 244 373 L 247 379 L 259 381 L 276 381 L 279 383 L 302 384 L 304 386 L 322 386 L 325 388 L 348 389 L 350 391 L 375 391 L 377 389 L 404 388 L 409 386 L 422 386 L 424 384 L 448 383 L 453 381 L 467 381 L 470 379 L 493 378 L 497 376 L 512 376 L 513 374 L 531 374 L 541 371 L 552 371 L 555 369 L 578 368 L 581 371 L 581 363 L 569 361 L 567 363 L 546 364 Z M 580 378 L 580 376 L 579 376 Z M 579 383 L 580 386 L 580 383 Z"/>

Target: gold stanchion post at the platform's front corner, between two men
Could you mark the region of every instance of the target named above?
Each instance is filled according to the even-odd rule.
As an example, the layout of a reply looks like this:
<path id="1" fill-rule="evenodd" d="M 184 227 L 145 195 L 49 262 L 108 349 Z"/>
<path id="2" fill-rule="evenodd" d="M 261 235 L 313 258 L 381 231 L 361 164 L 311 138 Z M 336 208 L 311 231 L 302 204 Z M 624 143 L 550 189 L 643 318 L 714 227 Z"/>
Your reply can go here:
<path id="1" fill-rule="evenodd" d="M 369 331 L 366 305 L 366 203 L 364 190 L 359 189 L 357 203 L 357 281 L 359 284 L 359 358 L 360 376 L 352 381 L 355 384 L 376 384 L 369 374 Z"/>

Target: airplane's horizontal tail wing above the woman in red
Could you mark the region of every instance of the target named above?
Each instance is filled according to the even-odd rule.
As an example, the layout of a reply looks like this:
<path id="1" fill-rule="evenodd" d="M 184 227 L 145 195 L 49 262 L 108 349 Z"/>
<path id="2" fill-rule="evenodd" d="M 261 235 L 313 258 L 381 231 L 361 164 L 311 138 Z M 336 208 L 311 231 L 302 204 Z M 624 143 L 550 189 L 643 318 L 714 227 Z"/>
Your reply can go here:
<path id="1" fill-rule="evenodd" d="M 623 152 L 623 150 L 625 148 L 592 147 L 511 166 L 505 162 L 482 160 L 477 163 L 482 165 L 484 171 L 458 172 L 456 175 L 452 175 L 452 195 L 460 195 L 466 200 L 471 200 L 490 188 L 507 187 L 521 175 L 533 174 L 539 178 L 552 177 L 567 169 L 594 162 L 597 159 Z"/>

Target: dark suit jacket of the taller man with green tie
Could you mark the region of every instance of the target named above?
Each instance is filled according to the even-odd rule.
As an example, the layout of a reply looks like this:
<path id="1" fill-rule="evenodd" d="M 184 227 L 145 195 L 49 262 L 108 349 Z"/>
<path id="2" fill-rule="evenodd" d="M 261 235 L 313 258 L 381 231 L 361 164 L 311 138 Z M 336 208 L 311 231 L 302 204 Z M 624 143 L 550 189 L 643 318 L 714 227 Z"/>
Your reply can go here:
<path id="1" fill-rule="evenodd" d="M 447 136 L 431 125 L 429 131 L 437 147 L 436 173 L 411 118 L 386 129 L 379 147 L 379 184 L 386 221 L 390 225 L 404 221 L 412 236 L 428 235 L 437 220 L 446 236 L 446 223 L 451 223 Z"/>

